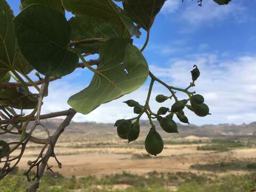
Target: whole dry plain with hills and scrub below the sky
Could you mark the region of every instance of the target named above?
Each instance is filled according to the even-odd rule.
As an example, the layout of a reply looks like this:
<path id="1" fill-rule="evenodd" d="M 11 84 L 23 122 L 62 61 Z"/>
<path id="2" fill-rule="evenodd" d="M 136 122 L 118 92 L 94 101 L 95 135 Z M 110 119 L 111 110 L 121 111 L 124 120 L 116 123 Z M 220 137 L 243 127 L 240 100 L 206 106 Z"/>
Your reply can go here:
<path id="1" fill-rule="evenodd" d="M 54 130 L 60 121 L 61 119 L 54 119 L 45 123 Z M 67 180 L 76 181 L 75 187 L 65 187 L 68 191 L 158 191 L 154 188 L 154 182 L 146 182 L 150 177 L 165 178 L 163 183 L 158 182 L 161 191 L 186 191 L 182 186 L 189 183 L 201 186 L 200 182 L 204 181 L 203 185 L 207 186 L 227 177 L 241 180 L 248 174 L 255 184 L 256 180 L 253 178 L 256 178 L 256 123 L 239 126 L 179 125 L 179 134 L 167 134 L 157 126 L 164 139 L 164 150 L 157 157 L 148 155 L 144 148 L 148 129 L 147 122 L 142 122 L 139 139 L 127 143 L 126 140 L 118 138 L 112 124 L 71 123 L 55 148 L 62 169 L 58 168 L 54 158 L 49 164 L 53 166 L 52 170 L 55 173 L 58 172 Z M 37 130 L 35 135 L 45 137 L 43 130 Z M 40 149 L 40 146 L 30 144 L 19 164 L 19 170 L 28 169 L 27 162 L 33 161 Z M 46 177 L 52 177 L 51 175 L 51 172 L 47 171 Z M 95 186 L 90 184 L 90 188 L 83 187 L 81 183 L 88 177 L 94 178 L 91 182 Z M 133 182 L 131 177 L 134 179 Z M 138 181 L 135 182 L 138 178 L 134 177 L 144 178 L 146 185 L 140 186 Z M 200 182 L 197 181 L 198 177 L 202 177 L 203 180 L 201 178 Z M 25 179 L 24 176 L 22 178 Z M 115 182 L 99 183 L 99 178 L 101 181 L 111 178 Z M 233 182 L 232 179 L 229 182 Z M 1 182 L 5 182 L 5 179 Z M 58 189 L 62 189 L 59 185 Z M 138 186 L 140 188 L 137 189 Z M 256 185 L 252 185 L 248 190 L 233 187 L 234 190 L 231 188 L 231 191 L 256 190 Z M 53 188 L 42 188 L 41 191 L 58 191 Z M 206 189 L 195 188 L 190 191 L 204 190 Z M 222 187 L 221 190 L 215 191 L 226 189 Z"/>

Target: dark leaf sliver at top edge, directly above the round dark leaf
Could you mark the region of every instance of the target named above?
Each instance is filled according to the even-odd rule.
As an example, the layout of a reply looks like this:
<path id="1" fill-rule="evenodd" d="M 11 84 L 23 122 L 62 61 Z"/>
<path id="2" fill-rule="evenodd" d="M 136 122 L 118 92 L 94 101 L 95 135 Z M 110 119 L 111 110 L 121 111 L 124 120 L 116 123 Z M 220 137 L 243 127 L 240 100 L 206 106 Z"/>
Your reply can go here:
<path id="1" fill-rule="evenodd" d="M 21 0 L 22 9 L 25 9 L 31 4 L 43 4 L 47 7 L 61 12 L 62 14 L 65 14 L 65 9 L 61 4 L 61 0 Z"/>

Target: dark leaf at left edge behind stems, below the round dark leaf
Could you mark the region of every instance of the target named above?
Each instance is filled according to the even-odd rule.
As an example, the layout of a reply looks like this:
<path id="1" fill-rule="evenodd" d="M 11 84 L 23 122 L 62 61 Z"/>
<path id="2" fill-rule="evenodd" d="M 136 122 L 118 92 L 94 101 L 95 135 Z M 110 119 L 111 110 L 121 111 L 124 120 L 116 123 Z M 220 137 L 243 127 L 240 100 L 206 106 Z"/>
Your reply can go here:
<path id="1" fill-rule="evenodd" d="M 0 90 L 0 104 L 11 105 L 16 109 L 34 109 L 37 105 L 37 97 L 26 96 L 23 87 L 10 87 Z"/>

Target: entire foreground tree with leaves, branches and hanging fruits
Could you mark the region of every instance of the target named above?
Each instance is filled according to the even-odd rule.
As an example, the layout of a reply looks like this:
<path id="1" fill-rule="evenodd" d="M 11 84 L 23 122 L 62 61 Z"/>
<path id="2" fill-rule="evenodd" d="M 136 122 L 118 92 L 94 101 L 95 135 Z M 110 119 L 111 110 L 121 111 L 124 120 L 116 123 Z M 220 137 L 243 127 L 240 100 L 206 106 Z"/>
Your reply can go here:
<path id="1" fill-rule="evenodd" d="M 231 0 L 214 1 L 223 5 Z M 154 76 L 142 54 L 165 0 L 117 2 L 122 2 L 123 8 L 112 0 L 21 0 L 21 11 L 14 17 L 7 2 L 0 0 L 0 134 L 20 135 L 15 142 L 0 140 L 0 179 L 19 163 L 27 143 L 35 142 L 43 147 L 38 157 L 28 162 L 25 175 L 30 180 L 30 171 L 36 168 L 34 183 L 29 189 L 36 191 L 44 170 L 51 170 L 47 163 L 50 157 L 55 158 L 61 168 L 54 146 L 76 112 L 89 114 L 102 103 L 137 90 L 148 77 L 151 81 L 146 102 L 125 101 L 133 107 L 136 115 L 115 123 L 117 134 L 122 139 L 131 142 L 139 137 L 139 121 L 146 114 L 151 127 L 145 148 L 149 154 L 157 155 L 163 150 L 164 143 L 153 119 L 157 119 L 164 131 L 178 133 L 173 116 L 188 123 L 183 109 L 188 108 L 201 117 L 209 115 L 203 96 L 189 91 L 200 75 L 196 65 L 191 70 L 191 82 L 182 89 L 167 85 Z M 202 5 L 202 1 L 198 2 Z M 74 17 L 67 20 L 66 11 L 73 13 Z M 143 30 L 147 38 L 139 49 L 133 41 L 140 38 Z M 86 57 L 94 53 L 99 54 L 99 59 L 87 60 Z M 96 67 L 92 67 L 94 65 Z M 71 109 L 41 115 L 43 98 L 48 96 L 50 82 L 73 73 L 78 67 L 86 67 L 94 74 L 89 86 L 69 98 Z M 31 76 L 31 71 L 38 81 L 32 81 L 28 76 Z M 157 95 L 156 101 L 163 103 L 171 99 L 174 102 L 172 106 L 163 106 L 154 113 L 149 99 L 155 82 L 170 91 L 170 95 Z M 185 93 L 187 99 L 180 100 L 177 91 Z M 31 110 L 26 114 L 23 109 Z M 51 135 L 41 119 L 59 116 L 66 118 Z M 33 123 L 30 129 L 29 123 Z M 46 139 L 33 137 L 37 126 L 43 127 L 48 136 Z M 19 155 L 11 157 L 14 151 L 19 151 Z"/>

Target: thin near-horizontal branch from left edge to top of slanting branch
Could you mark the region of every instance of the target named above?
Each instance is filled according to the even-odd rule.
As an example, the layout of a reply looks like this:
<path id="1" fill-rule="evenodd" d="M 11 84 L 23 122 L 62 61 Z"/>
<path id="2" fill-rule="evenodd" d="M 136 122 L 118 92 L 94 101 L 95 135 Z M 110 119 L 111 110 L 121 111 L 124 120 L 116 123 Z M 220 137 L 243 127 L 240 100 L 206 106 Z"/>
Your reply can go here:
<path id="1" fill-rule="evenodd" d="M 60 116 L 67 116 L 69 115 L 69 110 L 64 110 L 64 111 L 58 111 L 58 112 L 54 112 L 54 113 L 49 113 L 49 114 L 45 114 L 45 115 L 40 115 L 39 119 L 47 119 L 47 118 L 53 118 L 53 117 L 60 117 Z M 13 123 L 21 123 L 21 122 L 26 122 L 28 119 L 27 118 L 23 118 L 23 119 L 18 119 L 18 117 L 16 117 L 13 120 Z M 30 121 L 35 121 L 36 120 L 36 116 L 32 117 Z M 0 125 L 3 124 L 9 124 L 11 121 L 11 119 L 5 119 L 5 120 L 1 120 L 0 121 Z"/>

